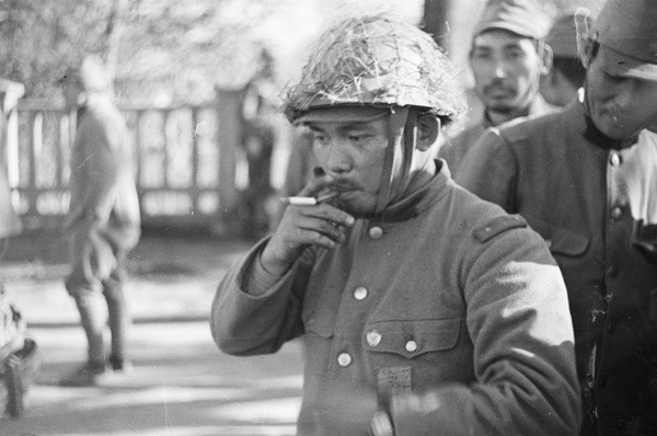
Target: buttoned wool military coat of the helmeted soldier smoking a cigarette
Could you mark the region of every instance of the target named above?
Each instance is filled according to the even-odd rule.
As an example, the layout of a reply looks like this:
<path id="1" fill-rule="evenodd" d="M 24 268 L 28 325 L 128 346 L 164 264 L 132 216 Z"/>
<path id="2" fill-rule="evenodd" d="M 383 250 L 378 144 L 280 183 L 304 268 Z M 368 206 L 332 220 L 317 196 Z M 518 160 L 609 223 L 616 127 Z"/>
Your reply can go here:
<path id="1" fill-rule="evenodd" d="M 302 336 L 300 435 L 331 434 L 338 412 L 324 400 L 336 389 L 346 402 L 392 395 L 399 436 L 577 432 L 558 268 L 525 220 L 456 186 L 446 168 L 381 216 L 357 220 L 336 249 L 308 249 L 251 295 L 246 278 L 266 243 L 222 279 L 211 330 L 235 355 L 274 353 Z"/>

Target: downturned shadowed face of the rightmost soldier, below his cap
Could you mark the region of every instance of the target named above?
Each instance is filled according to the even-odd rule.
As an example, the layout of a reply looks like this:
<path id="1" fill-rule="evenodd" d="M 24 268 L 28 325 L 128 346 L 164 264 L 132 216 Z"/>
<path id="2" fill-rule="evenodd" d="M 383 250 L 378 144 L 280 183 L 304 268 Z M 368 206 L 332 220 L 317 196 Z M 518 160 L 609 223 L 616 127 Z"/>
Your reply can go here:
<path id="1" fill-rule="evenodd" d="M 624 76 L 600 49 L 589 64 L 586 101 L 596 127 L 613 139 L 630 139 L 657 125 L 657 82 Z"/>

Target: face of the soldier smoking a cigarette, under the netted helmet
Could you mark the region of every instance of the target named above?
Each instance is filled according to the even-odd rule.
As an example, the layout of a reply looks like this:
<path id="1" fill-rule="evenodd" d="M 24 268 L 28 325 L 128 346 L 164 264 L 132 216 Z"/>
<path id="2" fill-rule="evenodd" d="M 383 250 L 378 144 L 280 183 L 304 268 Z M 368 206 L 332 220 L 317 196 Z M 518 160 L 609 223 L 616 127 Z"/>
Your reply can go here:
<path id="1" fill-rule="evenodd" d="M 369 122 L 312 122 L 318 163 L 334 181 L 339 207 L 365 216 L 376 210 L 388 147 L 389 117 Z"/>

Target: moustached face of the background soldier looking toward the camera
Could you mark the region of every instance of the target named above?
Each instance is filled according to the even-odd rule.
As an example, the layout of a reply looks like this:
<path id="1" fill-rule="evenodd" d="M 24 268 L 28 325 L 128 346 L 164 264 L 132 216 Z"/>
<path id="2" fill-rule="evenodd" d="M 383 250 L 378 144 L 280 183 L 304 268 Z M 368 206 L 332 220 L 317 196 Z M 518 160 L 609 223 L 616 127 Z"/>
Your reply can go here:
<path id="1" fill-rule="evenodd" d="M 488 110 L 514 112 L 537 94 L 542 61 L 532 39 L 502 30 L 484 32 L 474 38 L 470 66 Z"/>

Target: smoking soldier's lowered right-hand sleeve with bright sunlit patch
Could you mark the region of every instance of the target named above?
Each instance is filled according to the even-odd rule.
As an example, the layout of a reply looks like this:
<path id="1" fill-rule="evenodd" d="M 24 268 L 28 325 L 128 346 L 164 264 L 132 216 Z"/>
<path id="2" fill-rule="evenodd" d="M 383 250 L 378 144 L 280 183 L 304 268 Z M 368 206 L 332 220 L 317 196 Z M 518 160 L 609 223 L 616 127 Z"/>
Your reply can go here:
<path id="1" fill-rule="evenodd" d="M 579 386 L 558 267 L 528 228 L 494 236 L 473 257 L 463 295 L 476 381 L 394 397 L 396 435 L 576 435 Z"/>

